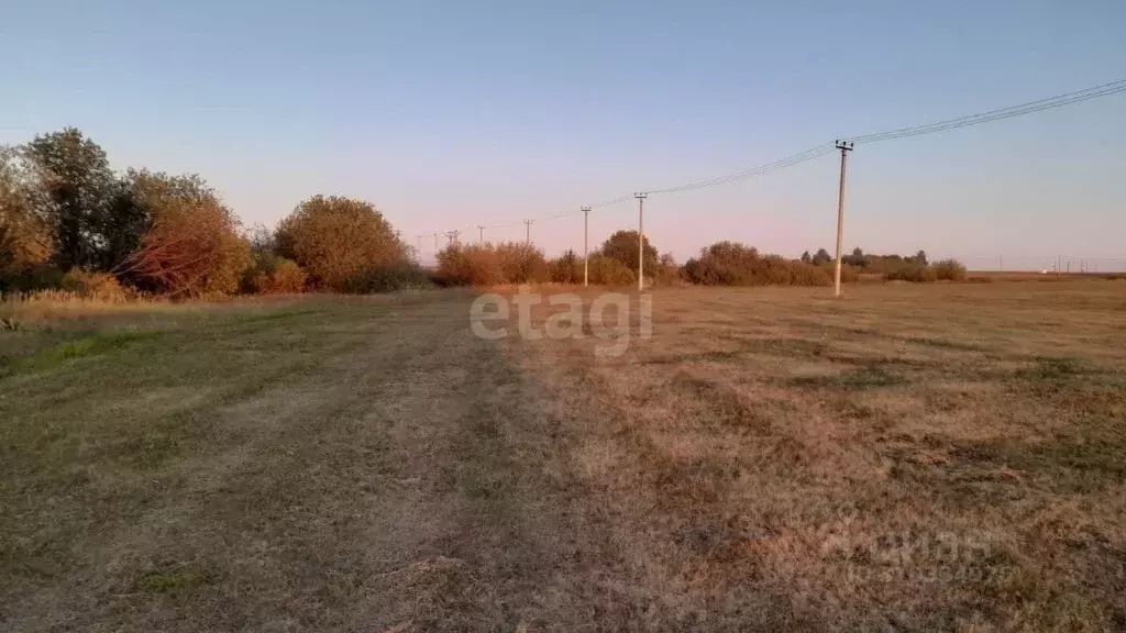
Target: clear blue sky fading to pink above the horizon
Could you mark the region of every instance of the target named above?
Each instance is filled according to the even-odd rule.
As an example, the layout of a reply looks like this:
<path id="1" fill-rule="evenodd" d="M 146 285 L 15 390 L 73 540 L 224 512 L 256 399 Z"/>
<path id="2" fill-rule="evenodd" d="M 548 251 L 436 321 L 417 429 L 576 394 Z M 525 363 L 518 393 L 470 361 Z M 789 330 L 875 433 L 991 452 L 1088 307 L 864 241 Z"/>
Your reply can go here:
<path id="1" fill-rule="evenodd" d="M 116 169 L 199 173 L 247 224 L 314 194 L 415 246 L 539 219 L 548 255 L 581 252 L 581 205 L 1126 78 L 1120 0 L 0 5 L 0 143 L 77 126 Z M 1124 145 L 1126 93 L 858 144 L 846 249 L 1126 266 Z M 831 252 L 839 160 L 654 195 L 646 237 L 681 261 Z M 635 200 L 596 208 L 591 246 L 636 224 Z"/>

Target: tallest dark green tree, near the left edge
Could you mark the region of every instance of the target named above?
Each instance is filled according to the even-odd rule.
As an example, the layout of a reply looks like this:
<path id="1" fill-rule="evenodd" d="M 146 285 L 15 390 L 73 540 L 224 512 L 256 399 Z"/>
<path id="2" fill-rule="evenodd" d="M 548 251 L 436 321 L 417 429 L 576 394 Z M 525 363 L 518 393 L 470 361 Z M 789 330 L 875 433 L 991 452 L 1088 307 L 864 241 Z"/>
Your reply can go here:
<path id="1" fill-rule="evenodd" d="M 106 216 L 116 179 L 106 152 L 74 127 L 39 135 L 25 148 L 46 191 L 47 217 L 60 268 L 104 264 Z"/>

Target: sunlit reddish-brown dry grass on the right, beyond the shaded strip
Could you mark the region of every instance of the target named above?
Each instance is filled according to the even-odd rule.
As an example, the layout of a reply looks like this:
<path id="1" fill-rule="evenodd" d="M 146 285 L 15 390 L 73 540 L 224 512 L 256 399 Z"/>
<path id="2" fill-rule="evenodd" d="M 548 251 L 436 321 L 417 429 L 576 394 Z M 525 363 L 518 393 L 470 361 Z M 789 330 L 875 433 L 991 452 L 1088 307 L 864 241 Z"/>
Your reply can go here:
<path id="1" fill-rule="evenodd" d="M 1126 285 L 653 304 L 622 358 L 512 351 L 617 555 L 611 627 L 1126 627 Z"/>

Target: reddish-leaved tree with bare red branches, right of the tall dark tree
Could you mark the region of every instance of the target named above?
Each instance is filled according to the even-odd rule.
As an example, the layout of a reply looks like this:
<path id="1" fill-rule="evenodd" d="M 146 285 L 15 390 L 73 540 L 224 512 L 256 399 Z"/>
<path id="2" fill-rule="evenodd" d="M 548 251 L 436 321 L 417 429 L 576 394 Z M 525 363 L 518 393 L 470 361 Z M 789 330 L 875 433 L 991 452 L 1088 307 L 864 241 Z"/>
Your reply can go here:
<path id="1" fill-rule="evenodd" d="M 172 296 L 238 292 L 250 243 L 214 189 L 195 175 L 133 176 L 131 204 L 148 230 L 117 273 Z"/>

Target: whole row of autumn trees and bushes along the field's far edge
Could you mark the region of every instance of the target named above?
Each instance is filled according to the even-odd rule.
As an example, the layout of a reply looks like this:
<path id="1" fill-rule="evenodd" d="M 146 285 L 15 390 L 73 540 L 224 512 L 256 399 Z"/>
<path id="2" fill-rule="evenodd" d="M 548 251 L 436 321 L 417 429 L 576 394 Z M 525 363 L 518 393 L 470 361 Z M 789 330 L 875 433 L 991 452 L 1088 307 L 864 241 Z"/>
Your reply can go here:
<path id="1" fill-rule="evenodd" d="M 617 231 L 591 253 L 589 279 L 629 285 L 637 276 L 636 231 Z M 790 260 L 718 242 L 677 265 L 644 240 L 644 271 L 655 284 L 826 285 L 824 249 Z M 843 258 L 846 279 L 958 278 L 956 262 L 926 253 Z M 77 128 L 0 146 L 0 291 L 62 287 L 172 297 L 305 291 L 369 293 L 429 285 L 582 283 L 574 251 L 548 259 L 528 243 L 453 243 L 434 269 L 365 200 L 315 195 L 272 229 L 243 226 L 198 175 L 129 168 L 115 172 L 106 152 Z"/>

